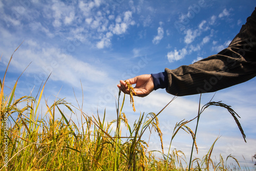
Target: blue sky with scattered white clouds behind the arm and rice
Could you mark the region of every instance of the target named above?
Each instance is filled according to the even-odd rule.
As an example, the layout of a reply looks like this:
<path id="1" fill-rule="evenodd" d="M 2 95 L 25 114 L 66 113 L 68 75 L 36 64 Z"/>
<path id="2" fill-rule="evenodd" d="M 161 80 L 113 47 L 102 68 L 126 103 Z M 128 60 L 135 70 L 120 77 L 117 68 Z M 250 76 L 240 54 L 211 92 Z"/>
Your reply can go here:
<path id="1" fill-rule="evenodd" d="M 0 75 L 15 52 L 6 86 L 12 87 L 20 73 L 16 96 L 36 95 L 40 84 L 51 76 L 45 97 L 66 98 L 76 105 L 74 92 L 83 111 L 100 114 L 106 109 L 109 120 L 116 118 L 116 84 L 140 74 L 175 69 L 213 55 L 227 47 L 245 24 L 255 1 L 0 1 Z M 248 165 L 256 152 L 255 78 L 218 91 L 214 101 L 231 105 L 241 116 L 247 135 L 243 142 L 231 115 L 220 108 L 205 111 L 198 132 L 199 156 L 207 154 L 214 140 L 214 154 L 236 156 Z M 82 84 L 82 90 L 81 90 Z M 73 91 L 74 90 L 74 91 Z M 6 91 L 8 91 L 6 89 Z M 203 94 L 202 104 L 214 93 Z M 178 97 L 159 116 L 164 133 L 165 152 L 176 122 L 197 115 L 199 95 Z M 124 111 L 131 123 L 140 112 L 158 113 L 173 96 L 165 90 L 135 98 L 136 113 L 130 102 Z M 195 122 L 189 124 L 195 127 Z M 154 137 L 154 136 L 152 136 Z M 152 138 L 151 149 L 160 149 Z M 173 147 L 189 155 L 191 138 L 181 133 Z"/>

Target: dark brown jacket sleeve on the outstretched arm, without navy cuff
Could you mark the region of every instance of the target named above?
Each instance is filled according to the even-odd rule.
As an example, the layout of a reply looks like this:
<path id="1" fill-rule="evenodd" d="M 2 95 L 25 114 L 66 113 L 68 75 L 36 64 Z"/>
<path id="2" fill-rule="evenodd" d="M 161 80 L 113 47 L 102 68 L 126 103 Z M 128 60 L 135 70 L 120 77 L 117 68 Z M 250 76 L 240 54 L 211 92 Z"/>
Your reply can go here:
<path id="1" fill-rule="evenodd" d="M 166 91 L 177 96 L 215 92 L 256 76 L 256 8 L 228 48 L 175 70 Z"/>

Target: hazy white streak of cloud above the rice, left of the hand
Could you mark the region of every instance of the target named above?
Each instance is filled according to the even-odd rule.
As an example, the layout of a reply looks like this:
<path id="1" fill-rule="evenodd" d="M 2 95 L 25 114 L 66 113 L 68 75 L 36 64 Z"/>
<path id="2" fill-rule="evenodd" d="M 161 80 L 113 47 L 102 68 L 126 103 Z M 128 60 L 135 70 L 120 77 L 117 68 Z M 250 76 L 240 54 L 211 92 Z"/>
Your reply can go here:
<path id="1" fill-rule="evenodd" d="M 61 49 L 41 44 L 36 46 L 38 42 L 35 40 L 29 40 L 26 44 L 29 45 L 29 49 L 20 48 L 16 52 L 17 55 L 26 58 L 14 58 L 12 66 L 22 71 L 32 61 L 26 73 L 36 76 L 37 80 L 34 83 L 41 83 L 51 72 L 51 80 L 67 82 L 72 87 L 78 87 L 80 79 L 100 82 L 107 77 L 106 72 L 100 67 L 63 53 Z"/>

